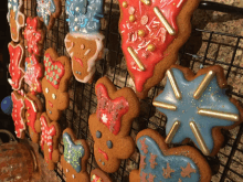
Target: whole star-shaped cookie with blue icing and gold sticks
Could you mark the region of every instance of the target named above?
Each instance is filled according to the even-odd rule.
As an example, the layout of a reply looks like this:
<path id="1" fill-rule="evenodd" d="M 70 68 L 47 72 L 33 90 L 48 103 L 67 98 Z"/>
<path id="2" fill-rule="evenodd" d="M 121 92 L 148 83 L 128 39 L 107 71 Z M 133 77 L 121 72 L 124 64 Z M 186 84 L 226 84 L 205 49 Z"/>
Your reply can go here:
<path id="1" fill-rule="evenodd" d="M 191 69 L 172 66 L 165 89 L 154 106 L 167 118 L 166 142 L 180 143 L 190 138 L 205 156 L 215 156 L 223 143 L 221 129 L 242 121 L 237 101 L 225 95 L 226 79 L 221 66 Z"/>

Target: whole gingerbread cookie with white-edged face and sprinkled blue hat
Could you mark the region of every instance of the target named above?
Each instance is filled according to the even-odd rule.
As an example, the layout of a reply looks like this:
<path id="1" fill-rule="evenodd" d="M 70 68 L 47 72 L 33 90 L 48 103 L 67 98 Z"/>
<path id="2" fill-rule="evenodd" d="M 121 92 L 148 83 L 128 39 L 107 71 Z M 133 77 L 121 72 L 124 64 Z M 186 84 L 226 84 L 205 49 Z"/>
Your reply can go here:
<path id="1" fill-rule="evenodd" d="M 66 14 L 70 33 L 65 46 L 72 58 L 75 78 L 92 83 L 95 62 L 101 60 L 104 50 L 104 35 L 99 33 L 104 0 L 67 0 Z"/>

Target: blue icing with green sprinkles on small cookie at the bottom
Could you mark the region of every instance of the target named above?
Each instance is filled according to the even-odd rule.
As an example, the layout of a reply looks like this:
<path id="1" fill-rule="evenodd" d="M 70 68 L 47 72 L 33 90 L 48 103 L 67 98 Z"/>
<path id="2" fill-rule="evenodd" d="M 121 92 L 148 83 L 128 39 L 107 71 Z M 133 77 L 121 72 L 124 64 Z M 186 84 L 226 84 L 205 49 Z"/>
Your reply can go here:
<path id="1" fill-rule="evenodd" d="M 84 157 L 82 143 L 75 144 L 67 132 L 63 133 L 64 159 L 76 172 L 81 172 L 81 159 Z"/>

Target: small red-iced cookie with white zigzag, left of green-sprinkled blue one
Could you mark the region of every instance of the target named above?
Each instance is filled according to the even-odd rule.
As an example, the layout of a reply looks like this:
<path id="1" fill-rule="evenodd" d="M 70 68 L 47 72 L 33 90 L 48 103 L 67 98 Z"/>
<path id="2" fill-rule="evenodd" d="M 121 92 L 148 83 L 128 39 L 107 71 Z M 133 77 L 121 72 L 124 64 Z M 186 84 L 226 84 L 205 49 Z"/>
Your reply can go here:
<path id="1" fill-rule="evenodd" d="M 36 130 L 41 129 L 40 146 L 44 152 L 45 162 L 49 170 L 54 170 L 55 163 L 59 162 L 59 139 L 61 137 L 61 128 L 56 121 L 51 121 L 45 113 L 36 120 Z"/>

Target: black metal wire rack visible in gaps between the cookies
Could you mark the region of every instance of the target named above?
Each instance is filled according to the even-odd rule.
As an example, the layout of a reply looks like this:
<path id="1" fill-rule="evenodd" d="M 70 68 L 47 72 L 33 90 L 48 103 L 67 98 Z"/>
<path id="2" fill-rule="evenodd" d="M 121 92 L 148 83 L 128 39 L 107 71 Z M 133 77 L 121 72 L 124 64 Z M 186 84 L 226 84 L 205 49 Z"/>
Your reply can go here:
<path id="1" fill-rule="evenodd" d="M 36 15 L 36 2 L 34 0 L 24 0 L 24 14 L 27 17 Z M 201 2 L 200 9 L 216 10 L 221 12 L 241 13 L 242 9 L 218 4 L 213 2 Z M 64 46 L 64 38 L 68 32 L 65 22 L 65 0 L 62 0 L 62 15 L 55 21 L 51 31 L 46 31 L 44 50 L 54 47 L 60 55 L 67 55 Z M 81 84 L 72 78 L 70 82 L 70 107 L 63 114 L 60 125 L 62 130 L 71 127 L 77 138 L 87 140 L 91 148 L 91 158 L 88 160 L 87 172 L 96 168 L 93 139 L 88 130 L 88 117 L 96 110 L 95 82 L 103 75 L 108 76 L 117 88 L 125 86 L 133 87 L 131 78 L 126 69 L 126 63 L 120 50 L 120 35 L 118 33 L 119 7 L 117 0 L 105 0 L 105 18 L 102 22 L 102 32 L 104 33 L 106 54 L 97 63 L 97 72 L 93 84 Z M 225 39 L 231 39 L 231 43 L 225 43 Z M 194 41 L 197 40 L 197 41 Z M 199 42 L 200 43 L 199 43 Z M 193 29 L 188 43 L 181 49 L 179 64 L 188 66 L 197 72 L 201 66 L 219 64 L 224 67 L 228 81 L 243 78 L 243 64 L 240 64 L 237 52 L 242 51 L 243 38 L 234 34 L 221 32 L 204 31 Z M 198 50 L 197 50 L 198 47 Z M 229 50 L 225 52 L 225 47 Z M 228 60 L 223 60 L 223 55 Z M 28 55 L 28 53 L 27 53 Z M 41 57 L 42 62 L 42 57 Z M 234 81 L 235 81 L 234 79 Z M 27 88 L 27 85 L 25 85 Z M 140 100 L 140 116 L 135 119 L 131 129 L 131 137 L 145 128 L 152 128 L 165 136 L 166 116 L 159 114 L 152 107 L 154 97 L 163 88 L 163 82 L 149 92 L 149 96 Z M 28 89 L 28 88 L 27 88 Z M 230 88 L 229 94 L 239 100 L 243 100 L 243 90 Z M 40 96 L 44 99 L 43 96 Z M 232 131 L 223 131 L 226 137 L 224 149 L 218 157 L 207 158 L 214 172 L 213 182 L 220 181 L 243 181 L 243 125 Z M 60 151 L 63 153 L 63 144 L 60 142 Z M 41 150 L 40 150 L 41 152 Z M 117 182 L 127 182 L 130 170 L 138 168 L 139 152 L 136 150 L 131 158 L 124 160 L 117 172 L 110 176 Z M 62 167 L 57 163 L 55 169 L 60 181 L 65 181 Z"/>

